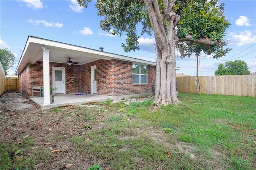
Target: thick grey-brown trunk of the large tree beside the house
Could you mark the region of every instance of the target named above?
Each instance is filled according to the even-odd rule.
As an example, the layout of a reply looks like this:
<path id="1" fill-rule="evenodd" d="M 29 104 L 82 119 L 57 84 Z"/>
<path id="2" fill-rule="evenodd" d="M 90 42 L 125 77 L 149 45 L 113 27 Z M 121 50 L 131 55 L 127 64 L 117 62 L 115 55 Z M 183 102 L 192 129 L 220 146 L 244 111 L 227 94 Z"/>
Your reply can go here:
<path id="1" fill-rule="evenodd" d="M 157 0 L 144 0 L 157 47 L 155 105 L 178 104 L 176 94 L 175 28 L 179 16 L 172 12 L 174 1 L 163 0 L 166 6 L 160 13 Z M 164 25 L 163 18 L 168 22 Z"/>

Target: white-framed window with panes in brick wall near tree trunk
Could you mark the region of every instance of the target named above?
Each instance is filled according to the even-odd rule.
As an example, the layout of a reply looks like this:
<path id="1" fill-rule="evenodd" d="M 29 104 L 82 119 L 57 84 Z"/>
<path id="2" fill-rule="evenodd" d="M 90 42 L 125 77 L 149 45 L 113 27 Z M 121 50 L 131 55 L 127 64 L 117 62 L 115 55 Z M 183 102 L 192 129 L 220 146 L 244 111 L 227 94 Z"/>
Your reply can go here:
<path id="1" fill-rule="evenodd" d="M 132 65 L 132 83 L 133 84 L 147 84 L 147 66 L 145 65 Z"/>

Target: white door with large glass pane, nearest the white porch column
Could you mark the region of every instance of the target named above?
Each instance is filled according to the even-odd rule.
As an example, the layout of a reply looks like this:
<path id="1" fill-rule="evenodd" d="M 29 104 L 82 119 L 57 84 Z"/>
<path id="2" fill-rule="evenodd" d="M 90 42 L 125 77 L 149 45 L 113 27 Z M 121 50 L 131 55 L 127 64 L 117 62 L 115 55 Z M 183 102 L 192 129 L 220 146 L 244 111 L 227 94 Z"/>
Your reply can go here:
<path id="1" fill-rule="evenodd" d="M 65 68 L 52 68 L 52 88 L 58 87 L 53 93 L 65 93 Z"/>

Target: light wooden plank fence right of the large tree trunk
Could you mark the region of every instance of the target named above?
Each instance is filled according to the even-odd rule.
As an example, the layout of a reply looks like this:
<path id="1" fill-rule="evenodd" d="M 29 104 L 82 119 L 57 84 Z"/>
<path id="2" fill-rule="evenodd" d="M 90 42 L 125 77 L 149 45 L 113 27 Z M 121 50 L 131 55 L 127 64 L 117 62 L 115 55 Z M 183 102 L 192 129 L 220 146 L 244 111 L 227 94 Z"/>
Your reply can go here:
<path id="1" fill-rule="evenodd" d="M 195 76 L 176 77 L 178 92 L 196 93 Z M 256 97 L 256 75 L 198 76 L 211 94 Z M 207 93 L 200 85 L 201 93 Z"/>

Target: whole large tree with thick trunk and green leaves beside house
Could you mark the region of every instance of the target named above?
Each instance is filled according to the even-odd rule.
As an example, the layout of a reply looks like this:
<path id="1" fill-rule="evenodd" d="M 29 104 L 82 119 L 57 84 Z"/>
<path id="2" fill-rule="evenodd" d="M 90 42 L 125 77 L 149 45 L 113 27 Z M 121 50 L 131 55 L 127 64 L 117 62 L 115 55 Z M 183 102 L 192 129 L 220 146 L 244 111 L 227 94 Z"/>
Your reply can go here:
<path id="1" fill-rule="evenodd" d="M 78 0 L 85 8 L 91 0 Z M 97 0 L 100 27 L 112 34 L 126 34 L 124 51 L 139 48 L 137 26 L 143 35 L 154 32 L 156 40 L 156 92 L 154 104 L 180 103 L 175 87 L 176 47 L 181 57 L 204 51 L 214 58 L 230 51 L 224 49 L 225 30 L 230 23 L 218 0 Z"/>

